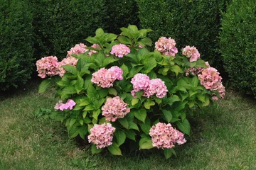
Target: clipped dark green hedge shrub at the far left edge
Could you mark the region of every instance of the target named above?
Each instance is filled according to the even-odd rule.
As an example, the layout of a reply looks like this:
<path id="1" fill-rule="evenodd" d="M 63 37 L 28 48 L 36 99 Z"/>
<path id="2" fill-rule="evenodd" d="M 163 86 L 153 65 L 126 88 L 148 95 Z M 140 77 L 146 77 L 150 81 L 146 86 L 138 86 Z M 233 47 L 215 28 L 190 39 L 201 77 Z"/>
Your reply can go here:
<path id="1" fill-rule="evenodd" d="M 0 91 L 25 84 L 31 77 L 32 21 L 28 1 L 0 1 Z"/>

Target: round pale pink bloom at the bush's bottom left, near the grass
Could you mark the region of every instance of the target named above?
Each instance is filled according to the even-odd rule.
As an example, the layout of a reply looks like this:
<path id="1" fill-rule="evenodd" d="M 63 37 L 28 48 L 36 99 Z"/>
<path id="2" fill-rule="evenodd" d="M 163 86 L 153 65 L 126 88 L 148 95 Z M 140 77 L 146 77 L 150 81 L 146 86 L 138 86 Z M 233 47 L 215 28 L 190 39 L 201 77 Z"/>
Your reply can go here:
<path id="1" fill-rule="evenodd" d="M 95 144 L 97 149 L 108 147 L 112 145 L 114 131 L 115 128 L 110 123 L 95 124 L 90 129 L 91 134 L 88 135 L 88 141 Z"/>

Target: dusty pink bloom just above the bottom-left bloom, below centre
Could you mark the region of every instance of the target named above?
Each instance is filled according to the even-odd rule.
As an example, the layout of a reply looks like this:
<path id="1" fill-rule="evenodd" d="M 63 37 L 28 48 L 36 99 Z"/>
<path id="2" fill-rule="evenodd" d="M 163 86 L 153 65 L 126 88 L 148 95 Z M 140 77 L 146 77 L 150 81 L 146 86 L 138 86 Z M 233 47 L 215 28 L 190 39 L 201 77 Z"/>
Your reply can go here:
<path id="1" fill-rule="evenodd" d="M 107 98 L 102 111 L 102 115 L 106 117 L 106 120 L 114 122 L 117 118 L 124 118 L 124 115 L 127 115 L 130 109 L 127 108 L 127 103 L 124 103 L 119 96 L 116 96 L 114 98 Z"/>

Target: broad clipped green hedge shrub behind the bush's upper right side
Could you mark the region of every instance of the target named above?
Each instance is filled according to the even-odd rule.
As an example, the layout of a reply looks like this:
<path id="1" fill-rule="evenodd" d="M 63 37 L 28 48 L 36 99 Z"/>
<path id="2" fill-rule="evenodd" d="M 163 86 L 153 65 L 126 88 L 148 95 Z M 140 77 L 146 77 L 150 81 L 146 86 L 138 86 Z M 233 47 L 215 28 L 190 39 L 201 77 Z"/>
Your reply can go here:
<path id="1" fill-rule="evenodd" d="M 203 60 L 221 69 L 218 35 L 223 1 L 137 0 L 140 27 L 154 30 L 149 34 L 153 41 L 160 36 L 174 38 L 178 50 L 194 45 Z"/>

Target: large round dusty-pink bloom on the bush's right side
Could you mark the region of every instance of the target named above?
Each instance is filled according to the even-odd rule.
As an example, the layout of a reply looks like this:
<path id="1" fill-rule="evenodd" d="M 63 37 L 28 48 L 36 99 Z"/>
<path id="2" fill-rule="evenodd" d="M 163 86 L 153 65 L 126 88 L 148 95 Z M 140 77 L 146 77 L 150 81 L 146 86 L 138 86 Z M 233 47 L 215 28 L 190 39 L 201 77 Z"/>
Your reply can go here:
<path id="1" fill-rule="evenodd" d="M 220 73 L 213 67 L 203 69 L 203 72 L 198 75 L 198 78 L 201 84 L 211 91 L 218 89 L 218 84 L 221 83 L 222 79 Z"/>

